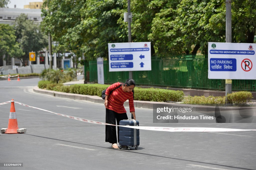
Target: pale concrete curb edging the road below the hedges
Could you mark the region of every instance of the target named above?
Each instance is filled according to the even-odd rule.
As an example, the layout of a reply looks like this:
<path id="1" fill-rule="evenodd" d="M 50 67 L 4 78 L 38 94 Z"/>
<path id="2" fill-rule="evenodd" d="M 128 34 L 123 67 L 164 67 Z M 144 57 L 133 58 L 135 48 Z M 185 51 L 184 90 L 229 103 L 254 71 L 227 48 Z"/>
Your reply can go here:
<path id="1" fill-rule="evenodd" d="M 69 98 L 74 100 L 87 100 L 94 103 L 102 103 L 104 104 L 104 100 L 99 96 L 90 96 L 90 95 L 80 95 L 80 94 L 73 94 L 73 93 L 64 93 L 59 91 L 52 91 L 52 90 L 45 90 L 40 89 L 38 86 L 33 87 L 33 91 L 40 94 L 51 95 L 55 97 L 62 97 L 62 98 Z M 172 104 L 175 107 L 181 108 L 189 108 L 193 107 L 193 111 L 201 111 L 201 112 L 215 112 L 216 106 L 204 106 L 204 105 L 193 105 L 193 104 L 181 104 L 181 103 L 167 103 L 167 102 L 156 102 L 156 101 L 139 101 L 134 100 L 134 107 L 137 108 L 147 108 L 153 109 L 153 104 Z M 124 102 L 124 106 L 129 107 L 129 101 Z M 243 108 L 255 108 L 255 107 L 243 107 Z M 228 111 L 228 110 L 238 110 L 240 107 L 218 107 L 219 110 Z"/>

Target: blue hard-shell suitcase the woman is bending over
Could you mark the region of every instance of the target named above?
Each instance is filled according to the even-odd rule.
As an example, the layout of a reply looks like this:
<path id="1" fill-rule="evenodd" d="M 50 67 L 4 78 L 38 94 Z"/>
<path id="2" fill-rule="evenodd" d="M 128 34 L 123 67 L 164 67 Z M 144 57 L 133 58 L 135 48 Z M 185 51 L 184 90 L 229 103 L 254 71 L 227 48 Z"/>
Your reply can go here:
<path id="1" fill-rule="evenodd" d="M 140 145 L 140 131 L 139 129 L 129 128 L 129 126 L 139 126 L 139 121 L 134 119 L 121 120 L 119 125 L 127 126 L 119 127 L 119 149 L 126 147 L 130 150 L 131 147 L 135 147 L 137 150 Z"/>

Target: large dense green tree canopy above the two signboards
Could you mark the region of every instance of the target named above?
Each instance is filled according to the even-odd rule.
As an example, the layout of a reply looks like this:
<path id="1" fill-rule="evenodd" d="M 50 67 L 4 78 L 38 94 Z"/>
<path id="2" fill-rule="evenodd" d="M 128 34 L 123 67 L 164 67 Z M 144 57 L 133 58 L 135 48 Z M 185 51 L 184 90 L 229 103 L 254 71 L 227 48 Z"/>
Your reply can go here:
<path id="1" fill-rule="evenodd" d="M 47 7 L 48 9 L 46 9 Z M 41 28 L 88 60 L 108 57 L 108 43 L 128 42 L 127 0 L 45 0 Z M 152 55 L 207 54 L 225 42 L 226 3 L 220 0 L 132 0 L 132 41 L 152 44 Z M 253 43 L 254 0 L 232 0 L 232 42 Z"/>

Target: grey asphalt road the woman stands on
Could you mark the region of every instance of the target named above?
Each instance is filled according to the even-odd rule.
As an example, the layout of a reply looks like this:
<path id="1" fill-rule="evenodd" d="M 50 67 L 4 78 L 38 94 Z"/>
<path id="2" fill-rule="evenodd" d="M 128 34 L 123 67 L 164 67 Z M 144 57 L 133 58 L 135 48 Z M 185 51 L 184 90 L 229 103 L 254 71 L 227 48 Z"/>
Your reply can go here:
<path id="1" fill-rule="evenodd" d="M 29 106 L 104 122 L 103 104 L 36 94 L 38 78 L 0 81 L 0 103 Z M 112 149 L 105 126 L 85 123 L 15 103 L 24 134 L 1 134 L 0 169 L 256 169 L 256 131 L 159 132 L 140 130 L 140 146 Z M 10 103 L 0 106 L 0 128 L 8 126 Z M 126 108 L 129 112 L 129 108 Z M 140 126 L 256 129 L 255 123 L 153 123 L 153 110 L 135 108 Z M 128 114 L 130 117 L 130 113 Z"/>

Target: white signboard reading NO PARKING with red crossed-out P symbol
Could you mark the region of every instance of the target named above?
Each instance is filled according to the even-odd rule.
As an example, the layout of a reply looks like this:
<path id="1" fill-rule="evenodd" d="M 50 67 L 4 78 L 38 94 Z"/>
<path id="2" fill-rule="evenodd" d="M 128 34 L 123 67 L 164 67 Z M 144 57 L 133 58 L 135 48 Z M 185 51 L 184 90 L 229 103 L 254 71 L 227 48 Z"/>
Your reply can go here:
<path id="1" fill-rule="evenodd" d="M 256 79 L 256 44 L 208 42 L 208 79 Z"/>

